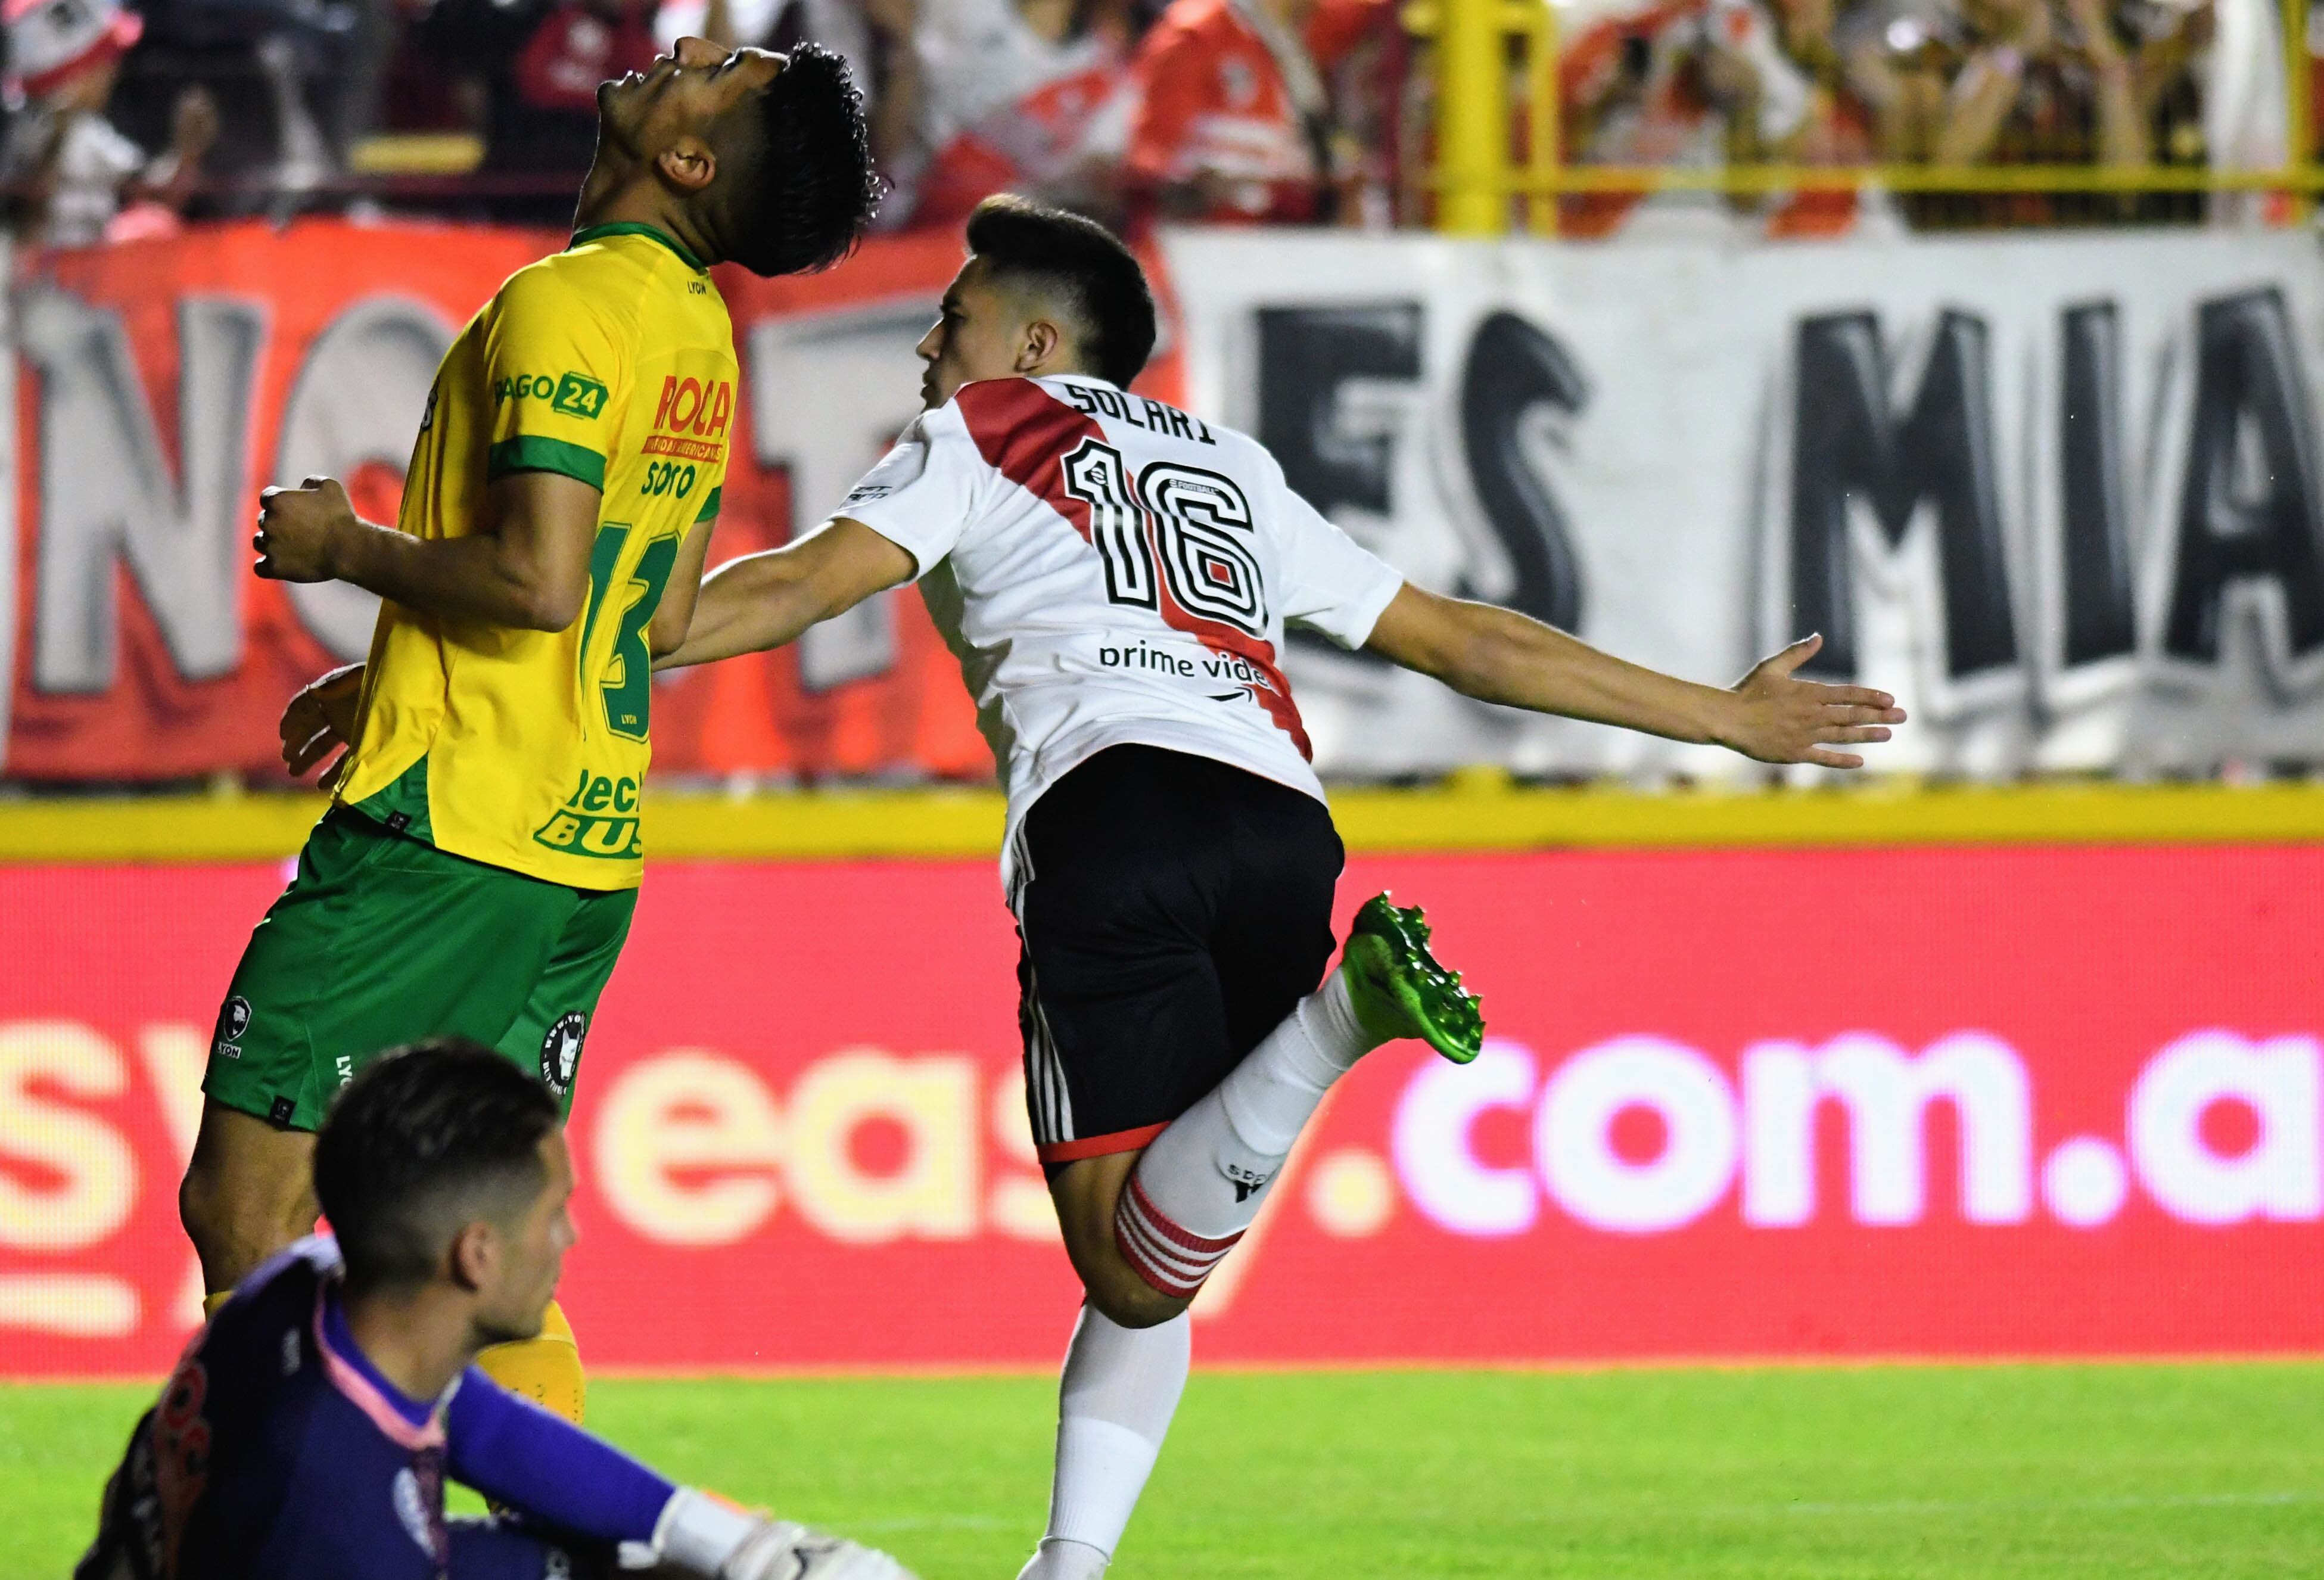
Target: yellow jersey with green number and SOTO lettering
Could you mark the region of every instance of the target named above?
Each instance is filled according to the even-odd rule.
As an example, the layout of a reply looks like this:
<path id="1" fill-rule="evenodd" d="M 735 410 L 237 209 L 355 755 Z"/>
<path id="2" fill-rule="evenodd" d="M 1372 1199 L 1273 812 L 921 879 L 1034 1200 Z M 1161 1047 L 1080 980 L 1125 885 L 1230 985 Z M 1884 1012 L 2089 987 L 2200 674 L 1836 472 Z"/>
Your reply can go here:
<path id="1" fill-rule="evenodd" d="M 462 537 L 511 472 L 602 493 L 588 602 L 562 632 L 379 609 L 337 802 L 493 867 L 634 888 L 651 757 L 646 627 L 734 444 L 734 328 L 648 225 L 595 225 L 511 274 L 444 353 L 397 527 Z"/>

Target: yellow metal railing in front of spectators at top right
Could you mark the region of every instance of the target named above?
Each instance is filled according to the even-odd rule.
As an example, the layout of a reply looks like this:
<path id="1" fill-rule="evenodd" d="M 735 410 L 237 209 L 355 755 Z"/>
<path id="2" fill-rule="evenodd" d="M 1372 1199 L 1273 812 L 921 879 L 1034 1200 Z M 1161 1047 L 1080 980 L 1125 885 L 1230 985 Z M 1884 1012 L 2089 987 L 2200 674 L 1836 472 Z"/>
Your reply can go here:
<path id="1" fill-rule="evenodd" d="M 1878 186 L 1892 193 L 2284 193 L 2324 191 L 2310 146 L 2308 0 L 2282 0 L 2284 149 L 2280 170 L 2189 165 L 1994 163 L 1994 165 L 1576 165 L 1564 158 L 1555 0 L 1411 0 L 1404 28 L 1425 40 L 1436 77 L 1436 228 L 1501 235 L 1525 200 L 1527 228 L 1555 235 L 1559 198 L 1592 193 L 1813 193 Z M 1518 60 L 1522 58 L 1522 70 Z M 1522 84 L 1525 158 L 1515 158 L 1511 84 Z"/>

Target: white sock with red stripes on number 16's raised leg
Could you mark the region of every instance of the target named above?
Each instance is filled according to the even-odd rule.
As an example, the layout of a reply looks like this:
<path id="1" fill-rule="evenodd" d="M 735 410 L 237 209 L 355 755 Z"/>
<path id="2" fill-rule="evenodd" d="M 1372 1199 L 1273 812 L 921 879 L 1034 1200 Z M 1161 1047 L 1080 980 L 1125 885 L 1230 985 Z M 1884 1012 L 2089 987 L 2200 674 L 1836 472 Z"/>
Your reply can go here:
<path id="1" fill-rule="evenodd" d="M 1162 1294 L 1195 1294 L 1260 1215 L 1322 1094 L 1378 1046 L 1332 971 L 1139 1157 L 1113 1213 L 1129 1266 Z"/>

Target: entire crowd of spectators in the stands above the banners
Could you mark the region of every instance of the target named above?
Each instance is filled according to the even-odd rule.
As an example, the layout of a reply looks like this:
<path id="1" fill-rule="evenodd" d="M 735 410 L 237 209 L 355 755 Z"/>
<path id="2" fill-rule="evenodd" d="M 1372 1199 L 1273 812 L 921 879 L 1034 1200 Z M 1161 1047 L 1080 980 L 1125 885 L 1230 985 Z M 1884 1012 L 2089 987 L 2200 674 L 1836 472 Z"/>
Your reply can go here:
<path id="1" fill-rule="evenodd" d="M 0 19 L 0 191 L 44 244 L 325 207 L 555 225 L 597 81 L 688 33 L 844 53 L 890 228 L 957 223 L 1002 188 L 1132 228 L 1385 228 L 1432 204 L 1427 46 L 1397 0 L 5 0 Z M 2284 163 L 2273 0 L 1559 0 L 1559 37 L 1573 165 Z M 1724 202 L 1778 230 L 1864 202 L 1766 186 Z M 1564 228 L 1615 230 L 1638 202 L 1566 198 Z M 2201 202 L 1908 191 L 1889 211 Z"/>

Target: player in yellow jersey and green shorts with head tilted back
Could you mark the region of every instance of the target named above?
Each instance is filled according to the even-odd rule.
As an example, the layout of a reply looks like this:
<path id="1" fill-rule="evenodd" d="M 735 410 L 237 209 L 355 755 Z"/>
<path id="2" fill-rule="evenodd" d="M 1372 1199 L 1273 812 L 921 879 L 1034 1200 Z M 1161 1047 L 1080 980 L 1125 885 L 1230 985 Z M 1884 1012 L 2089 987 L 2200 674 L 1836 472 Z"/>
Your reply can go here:
<path id="1" fill-rule="evenodd" d="M 314 1227 L 309 1155 L 381 1048 L 472 1036 L 562 1104 L 637 904 L 651 662 L 686 637 L 732 446 L 734 337 L 704 272 L 844 258 L 878 202 L 837 56 L 681 40 L 597 91 L 572 246 L 453 342 L 402 514 L 270 488 L 258 574 L 376 592 L 367 665 L 284 716 L 330 813 L 218 1013 L 181 1213 L 221 1299 Z M 579 1417 L 548 1338 L 486 1369 Z"/>

